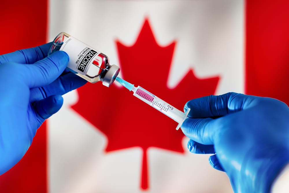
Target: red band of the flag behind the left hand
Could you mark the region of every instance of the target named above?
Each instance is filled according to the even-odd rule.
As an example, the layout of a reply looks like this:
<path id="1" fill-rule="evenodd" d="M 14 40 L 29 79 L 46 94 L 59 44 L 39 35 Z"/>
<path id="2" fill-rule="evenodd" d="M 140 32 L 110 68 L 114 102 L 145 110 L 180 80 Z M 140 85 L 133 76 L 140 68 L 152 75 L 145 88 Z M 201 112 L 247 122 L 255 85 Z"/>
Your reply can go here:
<path id="1" fill-rule="evenodd" d="M 44 44 L 47 36 L 47 1 L 3 1 L 0 21 L 0 54 Z M 44 123 L 37 130 L 32 146 L 23 159 L 0 176 L 0 192 L 47 192 L 46 147 Z"/>

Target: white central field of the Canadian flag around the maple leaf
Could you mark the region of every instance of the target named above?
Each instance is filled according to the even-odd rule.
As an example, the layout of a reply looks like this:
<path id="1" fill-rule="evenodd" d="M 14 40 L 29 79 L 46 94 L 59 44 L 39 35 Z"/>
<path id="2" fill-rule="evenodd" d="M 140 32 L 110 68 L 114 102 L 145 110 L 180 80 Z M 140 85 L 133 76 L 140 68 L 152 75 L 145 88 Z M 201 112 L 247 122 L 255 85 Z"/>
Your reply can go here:
<path id="1" fill-rule="evenodd" d="M 147 18 L 159 45 L 177 42 L 169 87 L 192 68 L 198 78 L 220 76 L 215 94 L 244 92 L 243 1 L 50 0 L 49 16 L 49 41 L 66 32 L 115 65 L 115 41 L 134 44 Z M 48 121 L 49 192 L 143 192 L 142 150 L 105 153 L 105 135 L 69 108 L 77 100 L 77 91 L 66 94 L 63 108 Z M 210 155 L 188 152 L 187 141 L 185 154 L 148 149 L 146 192 L 231 193 L 225 173 L 209 165 Z"/>

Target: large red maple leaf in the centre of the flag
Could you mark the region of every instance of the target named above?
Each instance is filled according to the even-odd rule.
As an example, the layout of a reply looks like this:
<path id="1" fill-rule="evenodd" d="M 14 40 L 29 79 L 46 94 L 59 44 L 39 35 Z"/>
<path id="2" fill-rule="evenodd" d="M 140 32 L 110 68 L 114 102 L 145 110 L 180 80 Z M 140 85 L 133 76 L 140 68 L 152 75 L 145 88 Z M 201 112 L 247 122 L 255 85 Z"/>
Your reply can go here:
<path id="1" fill-rule="evenodd" d="M 140 85 L 159 98 L 183 110 L 193 98 L 214 94 L 218 77 L 198 79 L 189 71 L 174 89 L 167 79 L 176 42 L 160 47 L 146 19 L 132 46 L 116 41 L 123 79 Z M 179 67 L 182 64 L 179 63 Z M 184 134 L 175 130 L 177 123 L 134 97 L 124 87 L 109 88 L 101 83 L 78 89 L 79 101 L 72 108 L 108 138 L 106 152 L 141 147 L 143 149 L 141 188 L 148 188 L 147 149 L 158 147 L 183 153 Z M 88 110 L 89 109 L 89 110 Z M 93 109 L 93 111 L 91 111 Z M 192 109 L 191 111 L 193 111 Z"/>

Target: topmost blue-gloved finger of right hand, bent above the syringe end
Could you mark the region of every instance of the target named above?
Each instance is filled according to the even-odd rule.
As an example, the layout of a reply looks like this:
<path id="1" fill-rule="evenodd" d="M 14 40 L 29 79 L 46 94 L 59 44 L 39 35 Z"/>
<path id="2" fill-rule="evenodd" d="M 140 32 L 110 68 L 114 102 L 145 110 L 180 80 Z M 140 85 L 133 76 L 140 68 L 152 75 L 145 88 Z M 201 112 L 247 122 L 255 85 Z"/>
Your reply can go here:
<path id="1" fill-rule="evenodd" d="M 255 105 L 255 99 L 257 99 L 255 96 L 233 92 L 218 96 L 210 95 L 188 101 L 184 111 L 190 108 L 188 117 L 193 118 L 224 116 Z"/>

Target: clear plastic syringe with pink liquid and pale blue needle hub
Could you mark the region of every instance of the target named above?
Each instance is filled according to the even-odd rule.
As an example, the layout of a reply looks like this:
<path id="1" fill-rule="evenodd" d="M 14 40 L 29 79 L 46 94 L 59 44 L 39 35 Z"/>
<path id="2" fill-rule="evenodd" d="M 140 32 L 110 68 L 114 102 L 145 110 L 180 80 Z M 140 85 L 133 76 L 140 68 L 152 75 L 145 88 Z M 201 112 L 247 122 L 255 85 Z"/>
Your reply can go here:
<path id="1" fill-rule="evenodd" d="M 166 116 L 173 119 L 175 122 L 178 123 L 176 130 L 178 130 L 184 120 L 187 118 L 190 109 L 183 113 L 182 111 L 178 110 L 177 108 L 173 107 L 172 105 L 168 104 L 167 102 L 161 100 L 160 98 L 156 97 L 154 94 L 150 93 L 149 91 L 143 89 L 142 87 L 134 87 L 134 84 L 131 84 L 119 77 L 115 79 L 117 82 L 121 83 L 125 88 L 129 91 L 134 92 L 134 96 L 142 100 L 143 102 L 149 104 L 153 108 L 157 109 L 158 111 L 164 113 Z"/>

